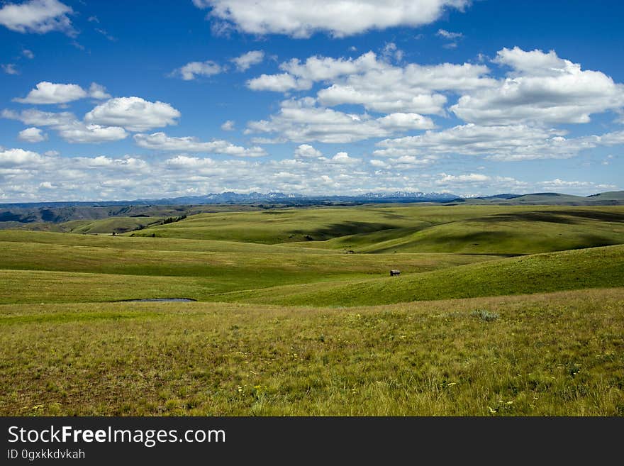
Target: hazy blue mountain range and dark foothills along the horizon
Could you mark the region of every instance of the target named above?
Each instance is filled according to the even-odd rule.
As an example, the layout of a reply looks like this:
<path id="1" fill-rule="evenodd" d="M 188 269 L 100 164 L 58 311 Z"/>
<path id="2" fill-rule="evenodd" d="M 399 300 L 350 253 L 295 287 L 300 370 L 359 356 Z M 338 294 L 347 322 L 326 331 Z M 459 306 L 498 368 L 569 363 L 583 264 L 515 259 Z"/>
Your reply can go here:
<path id="1" fill-rule="evenodd" d="M 306 196 L 253 192 L 238 194 L 223 192 L 205 196 L 182 196 L 135 201 L 65 201 L 0 204 L 0 229 L 21 228 L 37 223 L 63 223 L 74 220 L 98 220 L 110 217 L 150 218 L 190 216 L 202 212 L 237 209 L 272 209 L 296 206 L 354 206 L 360 204 L 435 203 L 442 206 L 501 205 L 501 206 L 605 206 L 624 205 L 624 191 L 603 192 L 591 196 L 561 193 L 494 194 L 492 196 L 461 197 L 450 193 L 393 192 L 367 193 L 360 196 Z M 213 206 L 213 207 L 211 207 Z M 149 223 L 149 222 L 147 222 Z M 28 227 L 30 228 L 30 227 Z"/>

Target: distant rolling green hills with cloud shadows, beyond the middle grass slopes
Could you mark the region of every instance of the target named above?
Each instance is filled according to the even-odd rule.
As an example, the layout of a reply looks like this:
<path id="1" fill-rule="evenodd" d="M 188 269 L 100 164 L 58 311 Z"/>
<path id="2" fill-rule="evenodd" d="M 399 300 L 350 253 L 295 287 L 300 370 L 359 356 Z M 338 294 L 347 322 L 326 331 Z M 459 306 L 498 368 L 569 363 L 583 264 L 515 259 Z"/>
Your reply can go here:
<path id="1" fill-rule="evenodd" d="M 134 236 L 361 253 L 530 254 L 624 243 L 624 206 L 359 206 L 201 214 Z"/>

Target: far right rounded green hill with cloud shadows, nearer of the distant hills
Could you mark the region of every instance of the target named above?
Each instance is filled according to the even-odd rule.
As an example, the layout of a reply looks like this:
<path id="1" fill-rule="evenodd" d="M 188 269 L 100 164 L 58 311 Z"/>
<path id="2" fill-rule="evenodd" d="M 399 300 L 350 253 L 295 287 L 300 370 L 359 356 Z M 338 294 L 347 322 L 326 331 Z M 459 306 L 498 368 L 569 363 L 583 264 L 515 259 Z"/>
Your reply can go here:
<path id="1" fill-rule="evenodd" d="M 342 236 L 305 247 L 357 253 L 535 254 L 624 243 L 624 208 L 448 206 L 457 219 Z M 462 218 L 474 209 L 474 216 Z M 428 208 L 421 218 L 426 219 Z M 459 215 L 462 213 L 462 215 Z"/>

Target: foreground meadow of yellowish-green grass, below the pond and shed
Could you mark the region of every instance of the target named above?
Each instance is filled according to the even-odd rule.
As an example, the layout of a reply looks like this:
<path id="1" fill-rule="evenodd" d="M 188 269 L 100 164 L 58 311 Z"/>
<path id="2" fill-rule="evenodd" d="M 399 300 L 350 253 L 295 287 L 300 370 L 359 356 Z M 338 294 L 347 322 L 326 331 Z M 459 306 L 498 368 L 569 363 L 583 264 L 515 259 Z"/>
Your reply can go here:
<path id="1" fill-rule="evenodd" d="M 622 416 L 623 306 L 0 306 L 0 414 Z"/>

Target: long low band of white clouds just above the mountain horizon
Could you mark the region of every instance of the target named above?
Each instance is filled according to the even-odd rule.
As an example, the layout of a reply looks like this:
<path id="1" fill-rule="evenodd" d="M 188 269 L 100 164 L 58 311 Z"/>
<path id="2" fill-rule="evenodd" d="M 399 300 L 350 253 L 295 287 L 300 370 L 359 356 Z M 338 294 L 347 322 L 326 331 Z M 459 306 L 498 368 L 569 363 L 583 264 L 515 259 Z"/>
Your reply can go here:
<path id="1" fill-rule="evenodd" d="M 23 149 L 0 150 L 5 177 L 3 201 L 84 201 L 155 199 L 211 192 L 366 192 L 447 191 L 455 194 L 536 192 L 552 189 L 578 194 L 617 187 L 565 178 L 526 182 L 467 170 L 431 174 L 419 157 L 371 160 L 369 164 L 338 152 L 330 158 L 245 159 L 176 154 L 162 160 L 133 156 L 60 157 Z M 55 189 L 52 189 L 55 188 Z"/>

